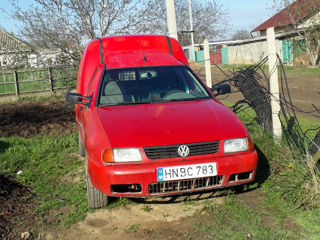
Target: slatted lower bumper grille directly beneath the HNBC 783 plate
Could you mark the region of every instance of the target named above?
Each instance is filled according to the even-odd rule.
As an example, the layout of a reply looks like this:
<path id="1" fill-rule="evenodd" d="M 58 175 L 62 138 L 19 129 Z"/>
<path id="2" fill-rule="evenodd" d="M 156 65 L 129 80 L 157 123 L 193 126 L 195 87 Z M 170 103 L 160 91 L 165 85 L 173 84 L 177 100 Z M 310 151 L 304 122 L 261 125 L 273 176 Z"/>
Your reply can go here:
<path id="1" fill-rule="evenodd" d="M 157 182 L 149 184 L 150 194 L 189 191 L 192 189 L 206 189 L 220 186 L 223 176 L 195 178 L 179 181 Z"/>

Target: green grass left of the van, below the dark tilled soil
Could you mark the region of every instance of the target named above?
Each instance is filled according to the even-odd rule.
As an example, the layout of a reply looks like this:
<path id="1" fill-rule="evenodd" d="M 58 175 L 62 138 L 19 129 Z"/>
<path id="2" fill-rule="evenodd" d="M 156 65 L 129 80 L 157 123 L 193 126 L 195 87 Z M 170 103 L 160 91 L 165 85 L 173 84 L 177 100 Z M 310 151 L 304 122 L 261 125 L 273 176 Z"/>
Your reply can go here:
<path id="1" fill-rule="evenodd" d="M 36 213 L 45 222 L 52 210 L 71 206 L 63 219 L 65 226 L 80 221 L 89 210 L 86 200 L 83 159 L 72 154 L 77 152 L 77 135 L 58 137 L 0 138 L 0 174 L 16 176 L 19 183 L 32 187 Z M 18 171 L 22 171 L 17 175 Z M 80 175 L 80 176 L 79 176 Z M 67 181 L 63 177 L 78 176 L 79 181 Z"/>

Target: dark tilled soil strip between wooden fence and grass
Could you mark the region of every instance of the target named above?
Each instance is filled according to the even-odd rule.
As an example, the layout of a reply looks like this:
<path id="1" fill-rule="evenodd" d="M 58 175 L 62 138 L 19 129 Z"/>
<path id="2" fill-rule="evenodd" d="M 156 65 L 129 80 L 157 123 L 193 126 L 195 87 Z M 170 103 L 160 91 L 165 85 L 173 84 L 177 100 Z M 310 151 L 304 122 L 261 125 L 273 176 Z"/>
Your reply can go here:
<path id="1" fill-rule="evenodd" d="M 31 138 L 75 131 L 74 106 L 63 99 L 0 104 L 0 136 Z"/>

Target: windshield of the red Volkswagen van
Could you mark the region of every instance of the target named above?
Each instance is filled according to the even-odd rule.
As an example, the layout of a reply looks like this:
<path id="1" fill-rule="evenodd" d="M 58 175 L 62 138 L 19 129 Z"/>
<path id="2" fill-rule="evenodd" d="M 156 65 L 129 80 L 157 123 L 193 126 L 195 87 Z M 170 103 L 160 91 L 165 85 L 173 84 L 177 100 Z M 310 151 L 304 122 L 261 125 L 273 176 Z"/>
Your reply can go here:
<path id="1" fill-rule="evenodd" d="M 210 97 L 185 66 L 124 68 L 105 72 L 99 105 L 188 101 Z"/>

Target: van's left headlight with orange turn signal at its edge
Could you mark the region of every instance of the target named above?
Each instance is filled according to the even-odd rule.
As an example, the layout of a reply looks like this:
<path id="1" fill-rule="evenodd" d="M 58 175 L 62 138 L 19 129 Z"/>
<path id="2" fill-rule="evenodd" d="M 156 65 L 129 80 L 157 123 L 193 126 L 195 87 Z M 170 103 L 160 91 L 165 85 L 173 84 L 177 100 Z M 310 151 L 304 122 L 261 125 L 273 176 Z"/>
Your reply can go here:
<path id="1" fill-rule="evenodd" d="M 102 152 L 104 162 L 141 162 L 139 148 L 114 148 Z"/>

